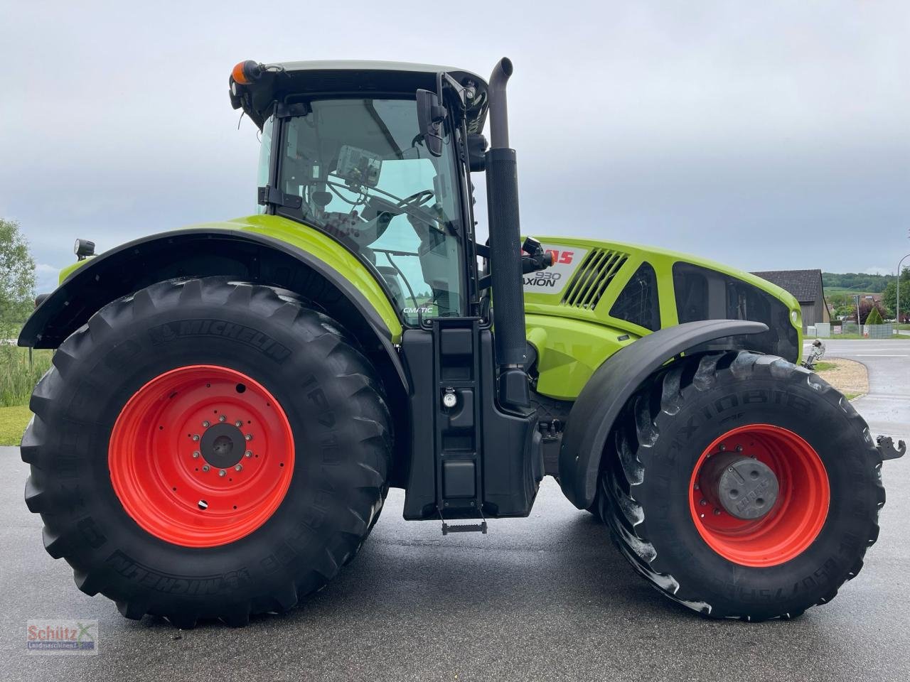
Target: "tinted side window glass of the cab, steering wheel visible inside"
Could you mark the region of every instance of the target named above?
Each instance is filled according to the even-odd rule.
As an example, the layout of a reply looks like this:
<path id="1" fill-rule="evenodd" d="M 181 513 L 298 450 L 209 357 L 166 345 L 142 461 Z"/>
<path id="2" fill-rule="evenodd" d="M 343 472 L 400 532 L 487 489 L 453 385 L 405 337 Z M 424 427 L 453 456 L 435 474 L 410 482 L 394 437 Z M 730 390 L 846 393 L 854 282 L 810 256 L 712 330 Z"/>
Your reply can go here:
<path id="1" fill-rule="evenodd" d="M 448 134 L 442 155 L 430 155 L 413 100 L 326 99 L 308 108 L 282 131 L 278 186 L 301 201 L 280 212 L 373 266 L 406 322 L 461 315 L 461 216 Z"/>

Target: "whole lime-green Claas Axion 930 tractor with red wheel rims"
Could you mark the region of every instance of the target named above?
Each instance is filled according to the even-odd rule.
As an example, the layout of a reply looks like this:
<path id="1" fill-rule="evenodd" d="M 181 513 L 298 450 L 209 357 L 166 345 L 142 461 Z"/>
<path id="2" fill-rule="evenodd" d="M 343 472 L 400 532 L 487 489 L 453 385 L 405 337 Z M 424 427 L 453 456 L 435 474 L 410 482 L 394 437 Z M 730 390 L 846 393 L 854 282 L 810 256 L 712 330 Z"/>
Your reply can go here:
<path id="1" fill-rule="evenodd" d="M 796 365 L 794 298 L 659 249 L 522 239 L 511 71 L 243 62 L 257 214 L 77 242 L 19 337 L 56 348 L 25 501 L 77 587 L 242 625 L 334 577 L 389 486 L 406 519 L 486 533 L 546 475 L 707 617 L 794 617 L 856 575 L 897 451 Z"/>

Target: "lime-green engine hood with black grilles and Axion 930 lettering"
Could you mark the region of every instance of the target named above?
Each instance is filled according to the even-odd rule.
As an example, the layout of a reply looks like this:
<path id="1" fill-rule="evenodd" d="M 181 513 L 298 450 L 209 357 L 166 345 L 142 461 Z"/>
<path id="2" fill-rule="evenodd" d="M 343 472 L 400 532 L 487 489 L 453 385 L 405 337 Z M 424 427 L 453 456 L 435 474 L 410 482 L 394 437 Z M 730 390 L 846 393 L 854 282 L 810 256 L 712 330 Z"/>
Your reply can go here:
<path id="1" fill-rule="evenodd" d="M 574 400 L 622 347 L 685 322 L 742 319 L 768 327 L 692 351 L 723 346 L 799 361 L 799 304 L 760 277 L 659 248 L 537 238 L 554 262 L 524 276 L 527 336 L 538 356 L 535 389 L 544 396 Z"/>

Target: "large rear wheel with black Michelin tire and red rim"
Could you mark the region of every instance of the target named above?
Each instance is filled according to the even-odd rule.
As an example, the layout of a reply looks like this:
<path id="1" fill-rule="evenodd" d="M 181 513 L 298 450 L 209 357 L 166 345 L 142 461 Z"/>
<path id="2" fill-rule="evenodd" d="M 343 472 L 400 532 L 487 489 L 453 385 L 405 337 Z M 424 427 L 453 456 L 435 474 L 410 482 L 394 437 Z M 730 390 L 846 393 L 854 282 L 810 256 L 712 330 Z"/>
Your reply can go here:
<path id="1" fill-rule="evenodd" d="M 45 547 L 126 617 L 294 607 L 358 551 L 387 489 L 369 361 L 268 286 L 121 298 L 60 346 L 30 405 L 25 501 Z"/>

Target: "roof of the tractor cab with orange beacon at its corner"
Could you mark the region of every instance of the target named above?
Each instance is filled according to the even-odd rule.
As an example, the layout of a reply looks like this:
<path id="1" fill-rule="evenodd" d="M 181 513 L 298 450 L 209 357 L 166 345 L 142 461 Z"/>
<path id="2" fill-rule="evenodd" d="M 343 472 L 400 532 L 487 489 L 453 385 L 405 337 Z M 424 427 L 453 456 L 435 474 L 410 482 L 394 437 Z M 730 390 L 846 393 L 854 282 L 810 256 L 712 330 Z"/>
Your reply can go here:
<path id="1" fill-rule="evenodd" d="M 293 104 L 337 95 L 407 96 L 422 88 L 436 90 L 436 76 L 449 74 L 463 86 L 473 86 L 467 118 L 469 132 L 479 133 L 487 115 L 487 83 L 479 75 L 451 66 L 356 59 L 308 60 L 264 64 L 257 81 L 240 85 L 230 78 L 231 105 L 243 108 L 262 127 L 276 102 Z"/>

